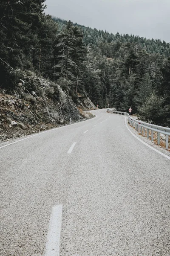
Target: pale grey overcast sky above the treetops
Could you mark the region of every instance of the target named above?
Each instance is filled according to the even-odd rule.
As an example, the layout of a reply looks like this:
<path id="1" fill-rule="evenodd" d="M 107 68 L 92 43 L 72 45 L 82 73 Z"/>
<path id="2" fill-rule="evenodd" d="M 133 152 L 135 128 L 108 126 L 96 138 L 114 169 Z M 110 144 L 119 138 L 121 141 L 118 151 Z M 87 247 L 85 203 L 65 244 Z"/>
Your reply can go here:
<path id="1" fill-rule="evenodd" d="M 170 42 L 170 0 L 46 0 L 45 13 L 115 34 Z"/>

